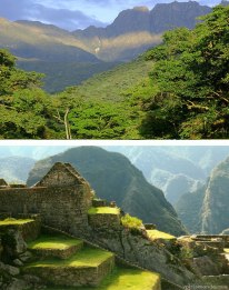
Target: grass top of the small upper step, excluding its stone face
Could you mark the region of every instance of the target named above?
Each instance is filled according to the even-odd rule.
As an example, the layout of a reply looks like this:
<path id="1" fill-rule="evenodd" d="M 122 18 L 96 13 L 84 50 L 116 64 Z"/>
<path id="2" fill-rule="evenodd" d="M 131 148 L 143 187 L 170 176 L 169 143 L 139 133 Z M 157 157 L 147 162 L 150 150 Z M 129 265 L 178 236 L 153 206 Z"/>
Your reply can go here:
<path id="1" fill-rule="evenodd" d="M 82 243 L 81 240 L 69 239 L 63 236 L 59 236 L 59 237 L 42 236 L 36 241 L 30 242 L 29 248 L 33 250 L 39 250 L 39 249 L 66 250 L 72 246 L 78 246 L 81 243 Z"/>

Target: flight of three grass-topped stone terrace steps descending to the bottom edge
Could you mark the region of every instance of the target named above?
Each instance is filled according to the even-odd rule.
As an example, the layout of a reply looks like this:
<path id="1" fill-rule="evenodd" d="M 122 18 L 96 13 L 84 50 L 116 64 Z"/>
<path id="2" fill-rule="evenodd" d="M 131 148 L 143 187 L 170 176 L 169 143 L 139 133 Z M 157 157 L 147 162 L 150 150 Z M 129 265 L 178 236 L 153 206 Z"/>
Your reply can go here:
<path id="1" fill-rule="evenodd" d="M 29 242 L 29 250 L 33 252 L 34 261 L 26 264 L 23 273 L 41 278 L 50 287 L 47 289 L 93 287 L 125 290 L 131 287 L 126 281 L 122 284 L 122 279 L 129 276 L 130 281 L 135 278 L 140 280 L 143 273 L 150 284 L 146 290 L 161 290 L 160 277 L 156 273 L 117 267 L 112 252 L 90 247 L 79 239 L 46 234 Z M 141 290 L 141 283 L 135 289 Z"/>

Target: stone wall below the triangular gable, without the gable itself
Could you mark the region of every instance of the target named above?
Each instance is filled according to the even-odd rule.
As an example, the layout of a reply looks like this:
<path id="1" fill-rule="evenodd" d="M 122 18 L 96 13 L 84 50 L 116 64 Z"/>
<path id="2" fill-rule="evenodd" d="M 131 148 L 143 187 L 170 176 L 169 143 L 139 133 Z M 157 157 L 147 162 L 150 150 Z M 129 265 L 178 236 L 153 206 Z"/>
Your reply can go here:
<path id="1" fill-rule="evenodd" d="M 86 232 L 90 207 L 91 190 L 87 184 L 0 190 L 0 212 L 11 217 L 39 213 L 44 224 L 76 236 Z"/>

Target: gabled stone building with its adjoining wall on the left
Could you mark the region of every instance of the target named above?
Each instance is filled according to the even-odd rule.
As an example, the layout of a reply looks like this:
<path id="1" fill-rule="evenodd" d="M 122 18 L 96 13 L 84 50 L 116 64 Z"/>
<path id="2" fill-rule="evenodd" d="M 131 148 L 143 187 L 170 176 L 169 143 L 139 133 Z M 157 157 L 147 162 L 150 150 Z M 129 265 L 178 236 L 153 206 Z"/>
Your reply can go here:
<path id="1" fill-rule="evenodd" d="M 0 180 L 0 216 L 40 214 L 42 222 L 76 236 L 88 229 L 93 192 L 69 163 L 56 163 L 33 187 L 9 186 Z"/>

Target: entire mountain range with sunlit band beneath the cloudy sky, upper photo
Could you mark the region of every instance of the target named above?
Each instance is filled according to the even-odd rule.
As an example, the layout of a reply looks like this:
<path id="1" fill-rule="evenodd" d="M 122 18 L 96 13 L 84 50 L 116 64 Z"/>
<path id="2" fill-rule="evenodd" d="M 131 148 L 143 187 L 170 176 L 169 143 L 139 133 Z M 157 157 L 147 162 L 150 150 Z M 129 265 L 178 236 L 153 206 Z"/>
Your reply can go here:
<path id="1" fill-rule="evenodd" d="M 151 11 L 136 7 L 107 28 L 73 32 L 39 21 L 0 19 L 0 47 L 17 56 L 19 68 L 46 73 L 44 89 L 57 92 L 135 59 L 160 43 L 166 30 L 193 28 L 196 18 L 210 11 L 195 1 L 157 4 Z"/>

